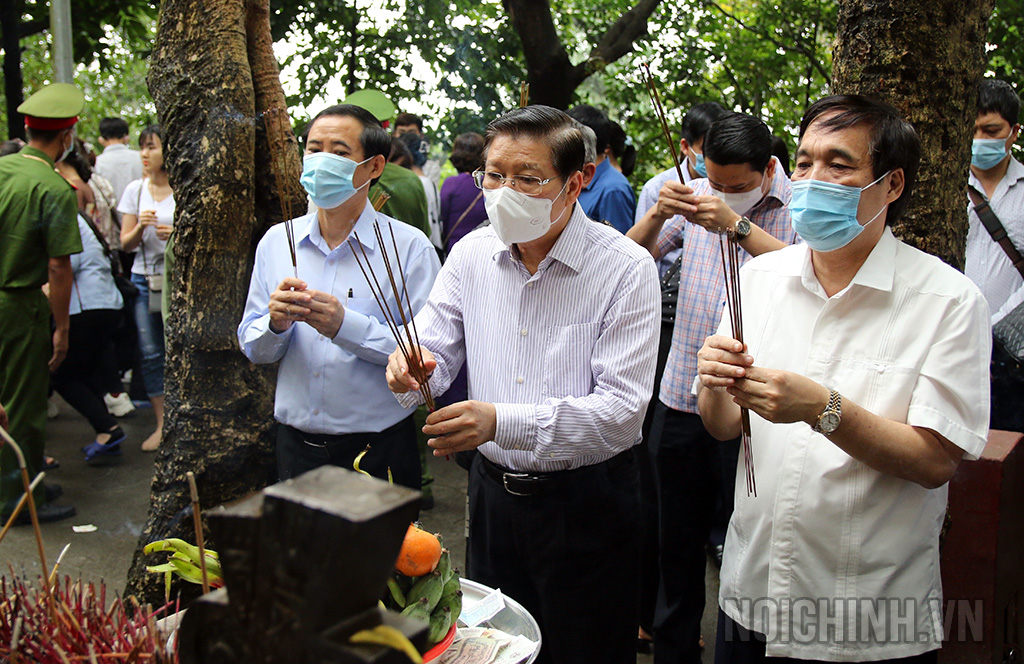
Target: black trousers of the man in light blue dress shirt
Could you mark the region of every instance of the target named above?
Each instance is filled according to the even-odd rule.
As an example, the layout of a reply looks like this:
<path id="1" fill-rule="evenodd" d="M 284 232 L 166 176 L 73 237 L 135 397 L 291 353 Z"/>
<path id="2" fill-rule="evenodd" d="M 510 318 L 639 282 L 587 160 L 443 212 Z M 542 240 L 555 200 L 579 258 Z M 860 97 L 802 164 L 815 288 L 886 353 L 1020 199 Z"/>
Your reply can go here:
<path id="1" fill-rule="evenodd" d="M 420 453 L 416 447 L 416 424 L 410 415 L 380 432 L 307 433 L 281 424 L 278 427 L 278 473 L 282 480 L 296 478 L 323 465 L 352 470 L 352 463 L 367 446 L 359 468 L 387 480 L 388 468 L 394 483 L 420 490 Z"/>

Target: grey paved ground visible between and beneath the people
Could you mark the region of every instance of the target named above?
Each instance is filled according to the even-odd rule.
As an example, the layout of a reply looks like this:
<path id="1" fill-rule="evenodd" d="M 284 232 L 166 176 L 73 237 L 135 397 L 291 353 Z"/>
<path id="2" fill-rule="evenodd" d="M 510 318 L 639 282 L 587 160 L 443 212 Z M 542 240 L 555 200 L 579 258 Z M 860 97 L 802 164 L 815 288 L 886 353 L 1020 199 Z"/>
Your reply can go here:
<path id="1" fill-rule="evenodd" d="M 47 561 L 52 566 L 65 545 L 71 547 L 60 571 L 89 581 L 103 580 L 111 590 L 120 592 L 135 550 L 138 533 L 145 521 L 150 500 L 150 483 L 156 458 L 139 450 L 142 440 L 153 430 L 153 411 L 138 410 L 121 419 L 128 433 L 122 447 L 124 455 L 116 463 L 92 467 L 86 465 L 81 448 L 92 441 L 91 429 L 78 413 L 54 397 L 59 415 L 47 426 L 47 453 L 60 461 L 60 467 L 47 475 L 47 481 L 63 487 L 61 503 L 75 505 L 78 515 L 56 524 L 43 525 L 43 541 Z M 452 550 L 458 567 L 465 559 L 466 472 L 455 461 L 432 459 L 436 478 L 436 507 L 423 512 L 425 528 L 440 532 Z M 91 533 L 75 533 L 73 526 L 92 525 Z M 33 576 L 40 569 L 35 538 L 31 527 L 12 529 L 0 543 L 0 566 L 4 574 L 10 565 L 18 573 Z M 715 612 L 718 576 L 713 566 L 708 573 L 709 607 L 706 611 L 703 636 L 708 641 L 703 661 L 714 660 Z M 649 664 L 650 656 L 638 655 L 637 664 Z"/>

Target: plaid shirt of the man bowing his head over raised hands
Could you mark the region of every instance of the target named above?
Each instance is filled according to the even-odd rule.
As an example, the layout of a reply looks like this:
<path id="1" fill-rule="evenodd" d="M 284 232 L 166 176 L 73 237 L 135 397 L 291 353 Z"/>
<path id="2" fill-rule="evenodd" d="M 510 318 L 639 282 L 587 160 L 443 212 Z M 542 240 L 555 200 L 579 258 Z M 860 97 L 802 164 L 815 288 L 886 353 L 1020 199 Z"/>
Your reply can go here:
<path id="1" fill-rule="evenodd" d="M 698 196 L 713 194 L 711 184 L 705 178 L 691 180 L 689 185 Z M 752 223 L 782 242 L 793 244 L 797 241 L 797 234 L 790 221 L 788 205 L 792 196 L 790 178 L 785 176 L 782 165 L 776 163 L 771 189 L 746 216 Z M 684 413 L 697 412 L 696 397 L 690 393 L 693 378 L 697 375 L 697 350 L 703 345 L 705 339 L 715 334 L 725 306 L 725 275 L 722 269 L 722 252 L 718 245 L 718 234 L 690 223 L 680 215 L 666 221 L 657 237 L 657 248 L 662 255 L 680 246 L 683 248 L 676 327 L 672 332 L 672 348 L 662 377 L 658 399 L 669 408 Z M 741 264 L 750 258 L 749 253 L 739 250 Z"/>

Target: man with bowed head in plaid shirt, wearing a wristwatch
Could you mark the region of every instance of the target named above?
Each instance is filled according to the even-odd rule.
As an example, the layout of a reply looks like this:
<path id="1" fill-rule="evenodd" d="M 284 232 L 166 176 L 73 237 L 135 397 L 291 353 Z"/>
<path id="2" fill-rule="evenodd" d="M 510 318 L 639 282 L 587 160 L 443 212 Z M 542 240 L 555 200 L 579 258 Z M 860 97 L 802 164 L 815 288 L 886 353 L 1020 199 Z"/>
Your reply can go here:
<path id="1" fill-rule="evenodd" d="M 657 204 L 627 234 L 654 258 L 683 248 L 672 349 L 651 425 L 650 454 L 658 500 L 660 584 L 654 612 L 654 661 L 700 661 L 705 543 L 711 532 L 723 463 L 705 429 L 690 386 L 697 350 L 714 333 L 725 302 L 720 234 L 739 244 L 741 261 L 796 240 L 790 179 L 771 154 L 771 131 L 741 113 L 721 116 L 703 140 L 708 177 L 662 188 Z M 727 493 L 731 496 L 731 492 Z M 726 505 L 731 511 L 731 504 Z"/>

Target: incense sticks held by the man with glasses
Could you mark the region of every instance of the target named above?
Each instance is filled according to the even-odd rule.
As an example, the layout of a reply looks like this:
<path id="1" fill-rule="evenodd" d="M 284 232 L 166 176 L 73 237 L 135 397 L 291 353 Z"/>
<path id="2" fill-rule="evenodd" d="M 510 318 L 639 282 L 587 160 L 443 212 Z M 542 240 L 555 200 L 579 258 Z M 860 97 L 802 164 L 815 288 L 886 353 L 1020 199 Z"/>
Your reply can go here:
<path id="1" fill-rule="evenodd" d="M 375 210 L 380 211 L 380 208 L 389 198 L 390 196 L 387 194 L 378 192 L 378 195 L 373 197 L 371 204 Z M 419 352 L 420 333 L 416 329 L 416 313 L 413 310 L 413 303 L 409 298 L 409 288 L 406 285 L 406 274 L 401 266 L 401 256 L 398 254 L 398 244 L 395 242 L 394 229 L 391 227 L 390 222 L 388 222 L 388 231 L 391 236 L 391 248 L 394 251 L 395 267 L 397 268 L 398 277 L 401 278 L 401 288 L 398 287 L 397 280 L 395 280 L 395 269 L 391 267 L 391 256 L 388 252 L 387 243 L 384 242 L 384 234 L 381 233 L 380 223 L 374 220 L 374 235 L 377 237 L 377 244 L 381 249 L 381 258 L 384 262 L 384 268 L 387 271 L 391 292 L 394 293 L 394 298 L 398 303 L 398 319 L 395 319 L 394 314 L 387 305 L 387 293 L 381 288 L 380 281 L 374 273 L 366 249 L 362 248 L 358 234 L 352 234 L 355 242 L 352 242 L 352 238 L 349 238 L 348 246 L 352 250 L 352 255 L 355 256 L 355 262 L 359 266 L 359 272 L 362 273 L 362 277 L 367 280 L 367 285 L 370 286 L 370 292 L 374 294 L 374 299 L 377 300 L 377 306 L 381 309 L 384 322 L 387 323 L 388 329 L 391 330 L 391 334 L 398 344 L 398 349 L 401 350 L 401 355 L 406 359 L 406 365 L 409 367 L 410 373 L 420 383 L 420 391 L 423 393 L 423 401 L 426 403 L 427 409 L 433 412 L 434 397 L 430 393 L 430 376 L 427 374 L 426 369 L 423 368 L 423 363 L 420 362 L 420 359 L 417 357 L 414 361 L 413 357 Z M 356 248 L 358 248 L 358 251 L 356 251 Z M 359 259 L 360 253 L 362 254 L 361 260 Z M 402 298 L 404 298 L 404 303 L 402 303 Z M 407 307 L 409 309 L 408 316 L 406 315 Z M 400 328 L 398 327 L 398 320 L 401 321 Z M 402 335 L 402 332 L 404 332 L 404 335 Z M 414 351 L 413 348 L 417 350 Z"/>

